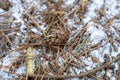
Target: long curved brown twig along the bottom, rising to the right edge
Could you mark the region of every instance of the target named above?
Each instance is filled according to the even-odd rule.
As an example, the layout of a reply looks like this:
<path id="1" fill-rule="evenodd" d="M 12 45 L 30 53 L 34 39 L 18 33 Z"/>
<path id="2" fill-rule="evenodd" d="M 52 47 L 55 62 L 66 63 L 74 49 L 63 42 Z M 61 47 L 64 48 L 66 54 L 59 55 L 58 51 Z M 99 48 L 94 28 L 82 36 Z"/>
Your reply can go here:
<path id="1" fill-rule="evenodd" d="M 81 74 L 76 74 L 76 75 L 44 75 L 44 78 L 51 78 L 51 79 L 60 79 L 60 78 L 77 78 L 77 77 L 83 77 L 83 76 L 87 76 L 89 74 L 92 74 L 92 73 L 95 73 L 99 70 L 102 70 L 108 66 L 110 66 L 113 62 L 116 62 L 120 60 L 120 55 L 118 55 L 115 59 L 113 59 L 111 62 L 108 62 L 104 65 L 102 65 L 101 67 L 99 68 L 96 68 L 96 69 L 93 69 L 93 70 L 90 70 L 88 72 L 85 72 L 85 73 L 81 73 Z M 25 75 L 23 75 L 25 76 Z M 29 75 L 29 77 L 38 77 L 38 78 L 41 78 L 43 75 Z"/>

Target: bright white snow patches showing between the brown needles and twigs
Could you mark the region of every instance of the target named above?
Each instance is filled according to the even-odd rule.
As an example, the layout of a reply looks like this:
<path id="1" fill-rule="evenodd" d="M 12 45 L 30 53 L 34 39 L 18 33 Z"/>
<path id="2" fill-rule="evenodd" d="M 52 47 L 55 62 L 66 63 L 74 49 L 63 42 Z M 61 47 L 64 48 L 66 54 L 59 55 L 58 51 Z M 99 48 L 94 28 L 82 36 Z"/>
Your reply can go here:
<path id="1" fill-rule="evenodd" d="M 23 39 L 21 39 L 21 40 L 22 40 L 22 43 L 25 43 L 25 40 L 28 37 L 28 35 L 27 35 L 27 31 L 25 30 L 25 28 L 26 28 L 25 22 L 23 21 L 23 19 L 21 17 L 22 13 L 25 10 L 25 7 L 29 6 L 29 4 L 31 4 L 31 2 L 34 2 L 32 4 L 32 6 L 34 6 L 37 9 L 38 12 L 36 12 L 36 13 L 39 14 L 39 12 L 46 10 L 47 6 L 45 4 L 41 5 L 39 1 L 35 1 L 35 0 L 26 0 L 26 3 L 28 5 L 26 5 L 25 7 L 23 7 L 23 4 L 21 3 L 20 0 L 9 0 L 9 1 L 12 2 L 12 4 L 13 4 L 13 7 L 10 8 L 10 13 L 12 14 L 12 16 L 15 19 L 13 21 L 11 27 L 14 28 L 14 27 L 16 27 L 16 23 L 20 23 L 21 33 L 17 33 L 17 35 L 19 35 L 19 37 L 20 37 L 22 34 L 24 34 L 24 36 L 22 36 Z M 65 4 L 64 7 L 72 6 L 75 2 L 75 0 L 63 0 L 63 1 Z M 56 2 L 57 2 L 57 0 L 56 0 Z M 116 44 L 118 51 L 117 52 L 112 51 L 112 53 L 111 53 L 110 47 L 112 45 L 109 42 L 108 43 L 106 42 L 106 40 L 108 39 L 108 36 L 105 33 L 103 26 L 98 24 L 98 23 L 95 23 L 93 21 L 90 21 L 93 18 L 96 18 L 98 16 L 95 13 L 95 11 L 100 9 L 101 7 L 103 7 L 103 4 L 105 4 L 105 13 L 106 13 L 106 17 L 108 19 L 115 16 L 115 15 L 119 15 L 120 9 L 116 8 L 116 6 L 119 6 L 120 3 L 118 3 L 117 0 L 93 0 L 92 3 L 88 5 L 88 11 L 87 11 L 87 13 L 84 14 L 84 18 L 83 18 L 83 23 L 84 24 L 88 23 L 87 33 L 90 34 L 90 41 L 92 41 L 90 44 L 94 45 L 94 44 L 97 44 L 97 43 L 104 41 L 104 44 L 102 44 L 103 46 L 101 46 L 99 49 L 90 50 L 90 52 L 89 52 L 89 54 L 91 56 L 94 56 L 97 59 L 99 59 L 99 61 L 101 63 L 105 62 L 104 55 L 108 55 L 110 57 L 110 61 L 114 57 L 116 57 L 117 55 L 120 55 L 120 45 Z M 3 9 L 0 9 L 0 14 L 2 14 L 3 12 L 5 12 L 5 11 Z M 42 18 L 42 16 L 40 16 L 40 17 Z M 76 20 L 73 21 L 72 19 L 68 18 L 67 25 L 80 30 L 82 27 L 82 24 L 80 24 L 80 25 L 75 24 L 75 22 L 80 21 L 77 15 L 75 15 L 75 19 Z M 102 19 L 100 21 L 104 24 L 104 23 L 106 23 L 106 18 L 102 17 Z M 120 34 L 118 34 L 116 32 L 116 30 L 113 28 L 113 26 L 116 26 L 120 30 L 120 19 L 115 19 L 111 24 L 112 25 L 109 27 L 110 27 L 110 32 L 114 34 L 113 38 L 115 39 L 116 37 L 120 37 Z M 46 29 L 45 23 L 42 23 L 42 25 L 40 25 L 40 27 L 43 30 L 45 30 Z M 34 33 L 40 33 L 40 32 L 38 32 L 38 30 L 36 28 L 32 28 L 31 31 L 33 31 Z M 16 37 L 14 42 L 19 43 L 19 38 Z M 112 50 L 113 50 L 113 48 L 112 48 Z M 36 53 L 36 55 L 38 55 L 40 53 L 40 51 L 37 51 L 37 50 L 34 50 L 34 52 Z M 0 65 L 2 65 L 2 68 L 0 69 L 0 76 L 2 76 L 3 78 L 6 78 L 6 79 L 12 78 L 13 76 L 17 77 L 17 75 L 15 75 L 15 74 L 8 75 L 8 73 L 4 72 L 4 70 L 9 71 L 9 67 L 5 68 L 5 69 L 4 69 L 4 67 L 5 66 L 12 66 L 11 63 L 19 57 L 19 54 L 20 54 L 19 52 L 14 51 L 14 52 L 8 54 L 7 56 L 3 57 L 3 59 L 0 61 Z M 50 57 L 51 55 L 48 54 L 47 56 Z M 74 59 L 75 62 L 77 62 L 77 59 L 75 59 L 73 56 L 72 56 L 72 58 Z M 86 64 L 86 66 L 84 68 L 81 68 L 81 69 L 78 69 L 75 67 L 70 68 L 70 70 L 69 70 L 70 74 L 74 75 L 75 72 L 77 74 L 79 74 L 81 72 L 86 72 L 86 70 L 92 70 L 92 69 L 96 68 L 97 64 L 92 61 L 91 57 L 82 56 L 81 59 L 82 59 L 82 62 L 84 64 Z M 40 58 L 40 60 L 44 60 L 44 58 Z M 65 61 L 64 58 L 59 57 L 58 58 L 59 66 L 61 65 L 63 67 L 62 64 L 64 63 L 64 61 Z M 48 66 L 48 65 L 49 65 L 48 61 L 45 61 L 43 64 L 43 66 Z M 115 63 L 115 69 L 114 69 L 115 71 L 118 70 L 118 67 L 119 67 L 118 65 L 119 65 L 118 63 Z M 25 73 L 25 69 L 26 69 L 25 66 L 20 66 L 17 69 L 16 73 L 17 74 Z M 75 72 L 73 69 L 75 70 Z M 64 74 L 66 74 L 66 73 L 64 73 Z M 96 75 L 98 77 L 102 77 L 104 74 L 105 74 L 105 71 L 101 71 L 101 72 L 96 73 Z M 113 74 L 112 70 L 109 70 L 107 72 L 107 76 L 110 77 L 111 80 L 116 80 L 116 77 L 112 74 Z M 73 80 L 79 80 L 79 79 L 73 78 Z"/>

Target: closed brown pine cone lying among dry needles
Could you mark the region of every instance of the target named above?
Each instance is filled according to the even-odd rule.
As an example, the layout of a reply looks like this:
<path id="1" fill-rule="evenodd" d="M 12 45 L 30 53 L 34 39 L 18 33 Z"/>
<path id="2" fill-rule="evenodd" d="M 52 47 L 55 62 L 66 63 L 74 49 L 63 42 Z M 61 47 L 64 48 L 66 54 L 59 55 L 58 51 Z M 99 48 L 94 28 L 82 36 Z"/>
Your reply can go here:
<path id="1" fill-rule="evenodd" d="M 53 46 L 59 46 L 59 45 L 65 45 L 66 41 L 69 38 L 69 30 L 63 29 L 63 28 L 52 28 L 48 35 L 45 36 L 41 43 L 44 45 L 53 45 Z"/>

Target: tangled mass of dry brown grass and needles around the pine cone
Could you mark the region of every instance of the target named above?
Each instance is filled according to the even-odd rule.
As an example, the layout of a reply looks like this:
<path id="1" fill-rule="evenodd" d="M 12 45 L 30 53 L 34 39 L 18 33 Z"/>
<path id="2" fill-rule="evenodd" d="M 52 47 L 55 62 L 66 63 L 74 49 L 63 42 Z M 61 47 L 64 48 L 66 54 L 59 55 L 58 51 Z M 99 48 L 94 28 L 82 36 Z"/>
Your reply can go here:
<path id="1" fill-rule="evenodd" d="M 82 23 L 82 19 L 84 18 L 84 14 L 87 12 L 87 5 L 90 2 L 81 3 L 78 2 L 75 5 L 79 5 L 78 8 L 75 10 L 71 10 L 72 7 L 68 8 L 61 8 L 60 6 L 63 4 L 62 0 L 58 3 L 54 1 L 46 2 L 48 6 L 48 10 L 41 12 L 39 15 L 36 14 L 36 10 L 34 7 L 29 6 L 26 8 L 25 12 L 23 13 L 23 20 L 26 22 L 28 36 L 25 40 L 24 44 L 19 42 L 19 44 L 15 44 L 14 37 L 17 36 L 17 33 L 20 33 L 19 23 L 17 24 L 17 28 L 8 28 L 6 27 L 0 28 L 0 59 L 2 60 L 3 57 L 7 56 L 13 51 L 20 52 L 20 56 L 14 62 L 11 63 L 11 71 L 9 73 L 16 73 L 16 70 L 20 66 L 25 66 L 25 51 L 26 48 L 29 46 L 33 46 L 34 49 L 39 51 L 38 55 L 35 55 L 35 72 L 34 75 L 29 75 L 29 78 L 33 80 L 43 80 L 43 79 L 71 79 L 71 78 L 93 78 L 93 79 L 100 79 L 96 76 L 96 72 L 105 70 L 106 68 L 109 69 L 109 66 L 112 63 L 116 63 L 120 60 L 120 55 L 114 58 L 110 62 L 102 63 L 94 56 L 89 54 L 89 51 L 97 50 L 100 47 L 104 46 L 102 42 L 97 44 L 91 45 L 90 41 L 90 34 L 87 34 L 88 23 L 83 24 L 81 30 L 76 30 L 75 28 L 71 28 L 67 25 L 68 18 L 64 16 L 67 15 L 72 20 L 75 20 L 75 15 L 78 15 L 78 18 L 81 20 L 80 22 L 76 22 L 76 24 Z M 57 6 L 57 7 L 55 7 Z M 53 9 L 53 10 L 52 10 Z M 115 51 L 117 52 L 118 49 L 117 45 L 120 45 L 119 37 L 120 37 L 120 30 L 115 24 L 112 22 L 115 19 L 119 19 L 119 16 L 114 16 L 113 18 L 107 19 L 106 14 L 104 13 L 104 7 L 100 10 L 97 10 L 96 13 L 99 15 L 96 19 L 92 19 L 91 22 L 97 23 L 103 27 L 103 30 L 107 34 L 108 39 L 106 43 L 109 42 L 111 44 L 110 52 Z M 6 13 L 5 13 L 6 14 Z M 38 19 L 38 16 L 42 16 L 42 19 Z M 106 18 L 106 23 L 100 22 L 102 17 Z M 3 16 L 2 16 L 3 17 Z M 4 16 L 5 17 L 5 16 Z M 26 21 L 27 20 L 27 21 Z M 5 21 L 6 24 L 10 21 Z M 40 26 L 40 22 L 45 23 L 47 28 L 42 30 Z M 10 24 L 11 25 L 11 24 Z M 110 31 L 110 25 L 113 25 L 113 28 L 116 30 L 116 33 L 119 34 L 119 37 L 114 38 L 114 35 Z M 2 23 L 0 22 L 0 26 Z M 31 31 L 31 28 L 36 28 L 41 32 L 41 34 L 36 34 Z M 8 34 L 12 33 L 12 36 Z M 74 31 L 74 33 L 72 33 Z M 22 36 L 19 36 L 20 40 Z M 14 50 L 10 49 L 13 47 Z M 19 46 L 16 48 L 16 46 Z M 88 58 L 91 57 L 94 63 L 97 63 L 96 69 L 87 71 L 85 70 L 84 73 L 77 74 L 75 69 L 84 69 L 87 65 L 82 61 L 82 57 Z M 2 65 L 0 65 L 2 68 Z M 120 68 L 119 68 L 120 69 Z M 74 75 L 71 75 L 71 70 L 74 72 Z M 52 74 L 52 75 L 50 75 Z M 65 75 L 66 74 L 66 75 Z M 25 79 L 25 74 L 19 75 L 19 78 L 22 80 Z M 119 74 L 117 75 L 119 76 Z"/>

